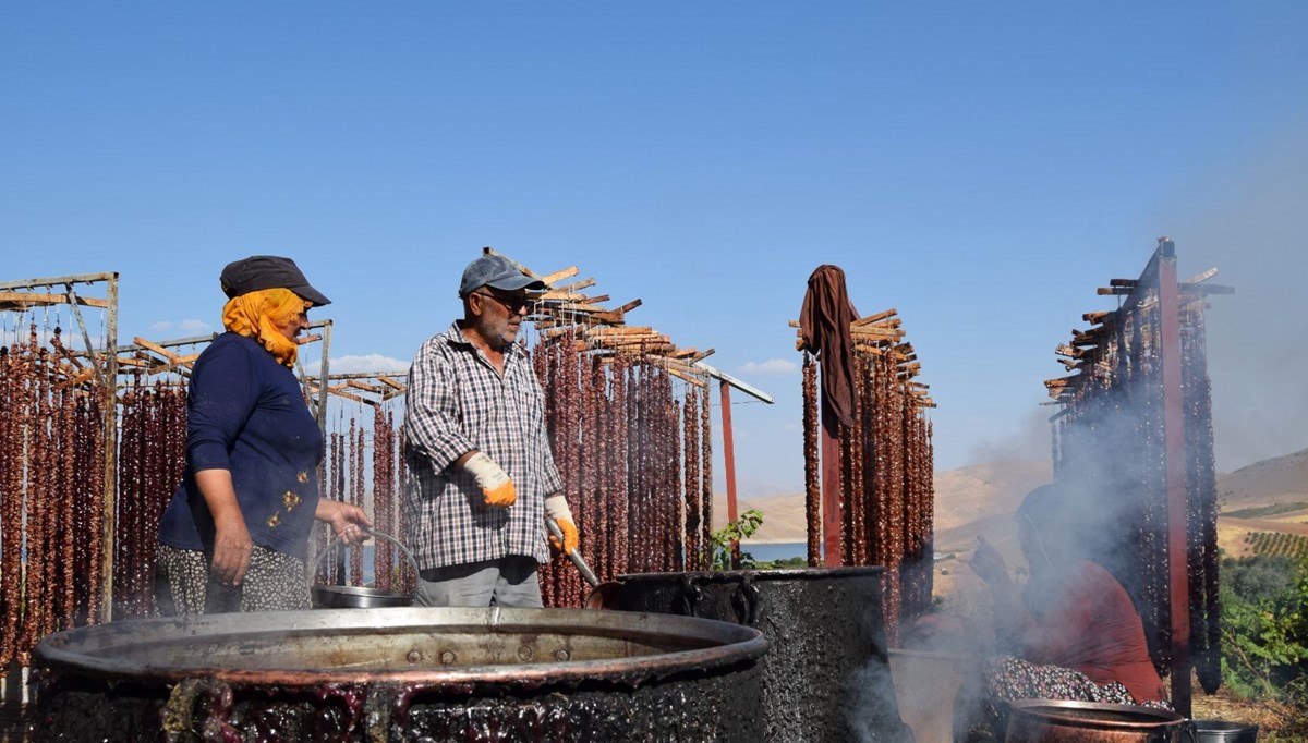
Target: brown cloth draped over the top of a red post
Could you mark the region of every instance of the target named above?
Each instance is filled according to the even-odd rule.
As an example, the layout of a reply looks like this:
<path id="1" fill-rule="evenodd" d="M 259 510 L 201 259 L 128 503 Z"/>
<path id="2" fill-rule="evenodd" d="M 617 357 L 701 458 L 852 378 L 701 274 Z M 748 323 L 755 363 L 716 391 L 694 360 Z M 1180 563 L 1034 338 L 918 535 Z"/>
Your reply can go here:
<path id="1" fill-rule="evenodd" d="M 803 349 L 821 362 L 821 394 L 836 419 L 854 425 L 854 337 L 849 324 L 858 311 L 845 292 L 845 271 L 829 263 L 808 276 L 804 306 L 799 310 Z"/>

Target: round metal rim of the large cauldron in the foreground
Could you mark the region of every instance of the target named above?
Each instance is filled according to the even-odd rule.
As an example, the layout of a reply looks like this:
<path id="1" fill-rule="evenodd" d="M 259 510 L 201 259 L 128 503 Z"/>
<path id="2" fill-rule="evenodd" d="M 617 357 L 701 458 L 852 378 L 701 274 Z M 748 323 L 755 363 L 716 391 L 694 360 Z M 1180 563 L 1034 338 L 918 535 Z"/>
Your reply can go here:
<path id="1" fill-rule="evenodd" d="M 402 616 L 404 615 L 404 616 Z M 476 617 L 483 617 L 477 621 Z M 252 617 L 260 620 L 260 625 L 241 631 L 242 623 L 249 623 Z M 404 621 L 408 619 L 408 621 Z M 553 620 L 545 625 L 545 620 Z M 586 621 L 578 621 L 586 620 Z M 662 632 L 651 625 L 641 628 L 642 624 L 659 623 L 664 627 Z M 269 628 L 269 624 L 280 629 Z M 576 629 L 574 634 L 632 634 L 634 637 L 650 637 L 678 632 L 680 636 L 697 637 L 700 640 L 717 638 L 719 645 L 697 648 L 688 650 L 675 650 L 668 653 L 655 653 L 633 658 L 612 658 L 599 661 L 551 661 L 536 663 L 514 665 L 479 665 L 479 666 L 451 666 L 451 667 L 424 667 L 424 668 L 320 668 L 320 670 L 277 670 L 277 668 L 239 668 L 232 666 L 205 666 L 204 658 L 198 662 L 173 665 L 145 665 L 123 658 L 105 658 L 90 654 L 90 650 L 109 649 L 115 646 L 115 637 L 123 638 L 126 645 L 128 637 L 156 631 L 158 637 L 166 628 L 182 636 L 195 636 L 204 632 L 204 628 L 220 629 L 208 634 L 209 641 L 230 640 L 233 636 L 247 633 L 251 637 L 264 636 L 272 632 L 292 634 L 313 634 L 323 629 L 331 629 L 341 624 L 354 633 L 399 633 L 405 628 L 411 629 L 438 629 L 449 628 L 468 629 L 481 628 L 488 632 L 514 632 L 515 628 L 535 628 L 538 632 L 566 633 Z M 221 632 L 226 628 L 226 632 Z M 596 632 L 598 629 L 598 632 Z M 590 631 L 590 632 L 587 632 Z M 712 636 L 712 637 L 710 637 Z M 101 645 L 77 651 L 78 642 Z M 672 674 L 695 670 L 710 670 L 731 666 L 740 662 L 752 662 L 768 650 L 768 638 L 757 629 L 742 627 L 726 621 L 681 617 L 672 615 L 655 615 L 642 612 L 599 612 L 573 608 L 525 610 L 525 608 L 413 608 L 413 607 L 386 607 L 386 608 L 348 608 L 348 610 L 305 610 L 305 611 L 279 611 L 260 613 L 224 613 L 205 615 L 198 617 L 150 617 L 129 619 L 116 623 L 107 623 L 76 629 L 65 629 L 43 638 L 33 650 L 34 666 L 67 670 L 82 675 L 103 679 L 124 680 L 154 680 L 154 682 L 181 682 L 188 678 L 213 678 L 228 683 L 238 684 L 283 684 L 283 685 L 320 685 L 330 683 L 358 683 L 358 684 L 411 684 L 415 688 L 441 688 L 449 685 L 484 685 L 497 687 L 542 687 L 552 684 L 576 685 L 578 682 L 620 682 L 638 683 L 641 679 L 663 678 Z"/>

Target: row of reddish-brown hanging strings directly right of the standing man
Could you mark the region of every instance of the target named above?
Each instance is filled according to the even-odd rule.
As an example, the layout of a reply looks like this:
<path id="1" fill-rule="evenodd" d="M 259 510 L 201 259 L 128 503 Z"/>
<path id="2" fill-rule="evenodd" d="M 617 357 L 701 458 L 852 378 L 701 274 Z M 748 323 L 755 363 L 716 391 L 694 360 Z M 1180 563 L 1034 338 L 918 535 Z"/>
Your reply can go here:
<path id="1" fill-rule="evenodd" d="M 561 332 L 532 334 L 531 358 L 582 557 L 600 581 L 709 569 L 708 385 L 675 378 L 640 347 L 596 352 L 581 318 L 562 318 Z M 566 560 L 542 565 L 540 586 L 549 607 L 579 607 L 589 590 Z"/>

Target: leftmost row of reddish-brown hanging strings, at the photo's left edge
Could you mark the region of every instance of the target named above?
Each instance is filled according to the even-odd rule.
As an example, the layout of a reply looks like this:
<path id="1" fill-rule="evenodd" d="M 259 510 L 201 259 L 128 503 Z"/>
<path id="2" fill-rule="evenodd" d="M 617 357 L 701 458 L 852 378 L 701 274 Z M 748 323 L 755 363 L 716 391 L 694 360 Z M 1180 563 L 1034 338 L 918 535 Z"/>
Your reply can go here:
<path id="1" fill-rule="evenodd" d="M 92 360 L 69 348 L 71 317 L 50 306 L 0 315 L 0 667 L 8 667 L 27 666 L 46 634 L 99 619 L 106 411 Z"/>

